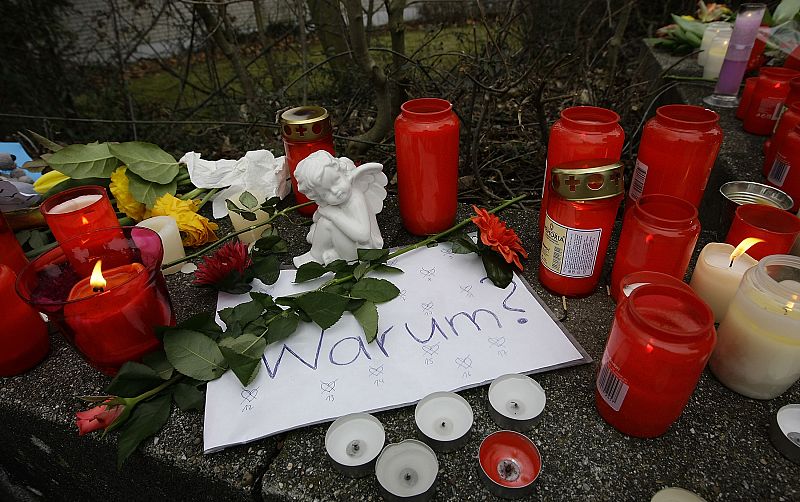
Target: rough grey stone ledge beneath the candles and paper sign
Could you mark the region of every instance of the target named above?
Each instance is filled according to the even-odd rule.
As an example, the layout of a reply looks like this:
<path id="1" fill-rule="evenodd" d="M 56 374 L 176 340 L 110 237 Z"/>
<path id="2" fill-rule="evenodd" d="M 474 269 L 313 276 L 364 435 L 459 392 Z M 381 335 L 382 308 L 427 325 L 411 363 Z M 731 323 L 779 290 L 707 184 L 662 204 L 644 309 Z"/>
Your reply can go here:
<path id="1" fill-rule="evenodd" d="M 674 60 L 658 56 L 652 72 Z M 688 65 L 671 73 L 697 74 Z M 699 104 L 710 87 L 681 85 L 663 99 Z M 704 231 L 695 257 L 716 240 L 717 189 L 732 179 L 761 180 L 761 140 L 744 134 L 732 111 L 723 111 L 725 141 L 701 208 Z M 461 215 L 469 208 L 460 208 Z M 541 421 L 529 432 L 544 462 L 531 500 L 649 500 L 665 486 L 681 486 L 707 500 L 799 500 L 800 466 L 782 457 L 767 438 L 770 418 L 800 402 L 800 385 L 771 401 L 744 398 L 704 372 L 680 419 L 662 437 L 636 439 L 607 425 L 594 407 L 594 380 L 614 313 L 605 289 L 569 300 L 545 292 L 535 277 L 538 242 L 532 211 L 507 210 L 503 218 L 531 253 L 525 278 L 595 359 L 592 364 L 536 375 L 547 392 Z M 413 241 L 389 199 L 379 222 L 388 244 Z M 615 233 L 619 232 L 619 225 Z M 283 231 L 292 255 L 304 251 L 304 229 Z M 613 242 L 616 240 L 613 239 Z M 609 250 L 613 257 L 614 249 Z M 610 259 L 606 264 L 609 270 Z M 213 309 L 215 295 L 177 274 L 168 278 L 180 319 Z M 527 327 L 526 329 L 532 329 Z M 79 438 L 75 399 L 98 393 L 108 379 L 91 369 L 58 334 L 49 357 L 29 373 L 0 379 L 0 498 L 11 500 L 379 500 L 374 476 L 351 480 L 327 459 L 327 424 L 306 427 L 219 453 L 202 453 L 202 415 L 174 410 L 158 437 L 145 442 L 122 471 L 115 467 L 115 437 Z M 488 414 L 488 386 L 461 394 L 475 412 L 466 447 L 439 454 L 434 500 L 496 500 L 477 476 L 477 449 L 498 430 Z M 278 403 L 275 404 L 276 406 Z M 387 442 L 415 437 L 413 407 L 377 413 Z M 5 495 L 5 497 L 2 497 Z"/>

